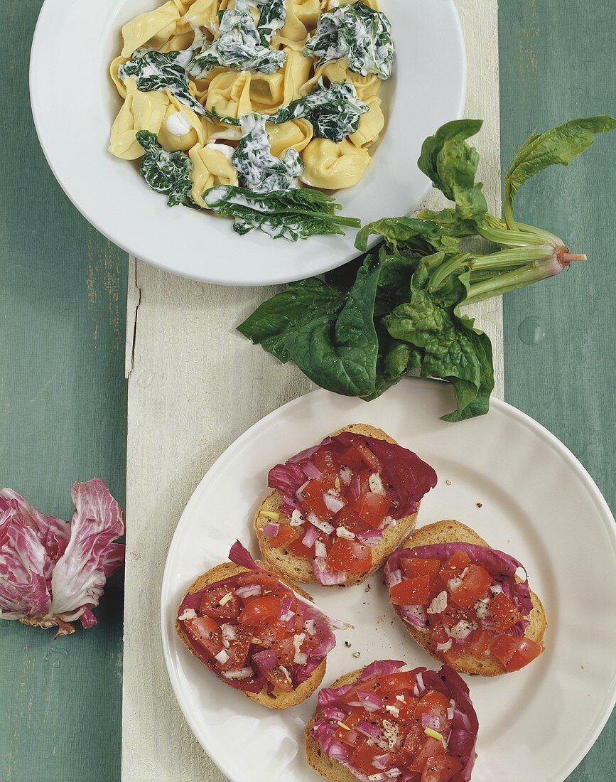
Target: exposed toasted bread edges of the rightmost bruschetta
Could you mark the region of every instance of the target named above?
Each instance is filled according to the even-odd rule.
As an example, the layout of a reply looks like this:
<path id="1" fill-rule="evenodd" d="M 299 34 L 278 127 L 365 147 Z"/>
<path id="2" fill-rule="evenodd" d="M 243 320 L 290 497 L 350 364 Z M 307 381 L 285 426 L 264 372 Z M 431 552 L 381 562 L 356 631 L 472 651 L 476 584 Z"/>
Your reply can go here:
<path id="1" fill-rule="evenodd" d="M 431 546 L 433 543 L 475 543 L 477 546 L 491 548 L 483 538 L 478 536 L 475 530 L 453 519 L 435 522 L 434 524 L 428 524 L 420 527 L 420 529 L 416 529 L 404 541 L 401 548 Z M 516 579 L 521 581 L 518 576 L 516 576 Z M 530 622 L 526 628 L 525 637 L 540 644 L 543 640 L 543 634 L 546 632 L 547 617 L 542 602 L 532 590 L 531 598 L 532 611 L 525 617 Z M 417 641 L 417 644 L 424 647 L 428 655 L 432 655 L 439 662 L 442 662 L 442 658 L 439 657 L 439 653 L 436 651 L 436 647 L 432 644 L 432 640 L 427 633 L 421 633 L 420 630 L 411 627 L 406 622 L 404 622 L 404 626 Z M 455 668 L 458 673 L 467 673 L 469 676 L 500 676 L 501 673 L 506 673 L 503 665 L 493 658 L 492 655 L 481 662 L 475 660 L 472 655 L 460 655 L 456 662 L 450 662 L 449 665 Z"/>

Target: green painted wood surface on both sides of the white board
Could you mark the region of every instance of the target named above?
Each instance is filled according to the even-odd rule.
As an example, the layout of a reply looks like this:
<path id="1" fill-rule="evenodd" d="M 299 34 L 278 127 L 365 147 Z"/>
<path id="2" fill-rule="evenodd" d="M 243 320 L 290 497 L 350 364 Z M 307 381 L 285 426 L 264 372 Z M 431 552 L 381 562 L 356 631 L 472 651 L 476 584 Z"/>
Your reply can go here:
<path id="1" fill-rule="evenodd" d="M 2 2 L 14 46 L 0 52 L 10 107 L 0 124 L 0 483 L 70 518 L 75 480 L 99 475 L 124 501 L 126 259 L 70 206 L 38 148 L 26 74 L 40 6 Z M 616 109 L 615 23 L 611 0 L 501 3 L 504 166 L 533 127 Z M 601 138 L 570 170 L 525 188 L 520 216 L 590 263 L 505 301 L 507 400 L 571 447 L 612 507 L 615 150 Z M 546 327 L 535 346 L 518 337 L 526 317 Z M 56 643 L 0 622 L 2 782 L 119 779 L 121 581 L 109 583 L 97 627 Z M 613 779 L 615 752 L 612 719 L 570 779 Z"/>

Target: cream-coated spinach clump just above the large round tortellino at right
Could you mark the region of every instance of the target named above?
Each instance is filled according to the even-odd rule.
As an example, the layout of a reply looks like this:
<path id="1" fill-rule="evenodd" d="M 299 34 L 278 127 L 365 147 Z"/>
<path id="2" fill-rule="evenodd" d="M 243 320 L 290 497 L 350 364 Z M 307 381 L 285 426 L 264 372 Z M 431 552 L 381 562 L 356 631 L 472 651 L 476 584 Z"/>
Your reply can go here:
<path id="1" fill-rule="evenodd" d="M 267 120 L 281 124 L 306 119 L 313 126 L 314 135 L 341 142 L 345 136 L 355 133 L 361 115 L 369 110 L 370 107 L 357 97 L 353 84 L 335 81 L 326 88 L 321 81 L 319 88 L 310 95 L 288 103 Z"/>

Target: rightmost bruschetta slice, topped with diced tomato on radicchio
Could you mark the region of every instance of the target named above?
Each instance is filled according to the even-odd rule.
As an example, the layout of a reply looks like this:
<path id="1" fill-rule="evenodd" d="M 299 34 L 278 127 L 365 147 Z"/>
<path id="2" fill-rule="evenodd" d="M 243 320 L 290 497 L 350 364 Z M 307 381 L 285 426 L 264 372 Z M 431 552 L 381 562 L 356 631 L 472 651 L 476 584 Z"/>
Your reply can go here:
<path id="1" fill-rule="evenodd" d="M 389 599 L 432 657 L 498 676 L 544 651 L 546 612 L 525 568 L 453 520 L 421 527 L 385 565 Z"/>

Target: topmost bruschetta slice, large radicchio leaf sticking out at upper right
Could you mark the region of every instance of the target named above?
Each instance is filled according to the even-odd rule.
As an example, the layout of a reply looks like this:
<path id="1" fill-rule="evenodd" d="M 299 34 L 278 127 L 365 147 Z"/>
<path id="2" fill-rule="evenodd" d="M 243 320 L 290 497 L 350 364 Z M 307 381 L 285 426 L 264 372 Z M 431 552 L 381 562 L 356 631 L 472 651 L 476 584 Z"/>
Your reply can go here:
<path id="1" fill-rule="evenodd" d="M 270 470 L 256 513 L 263 557 L 289 579 L 361 583 L 414 529 L 436 473 L 381 429 L 353 424 Z"/>

